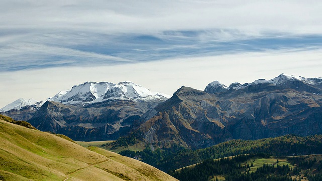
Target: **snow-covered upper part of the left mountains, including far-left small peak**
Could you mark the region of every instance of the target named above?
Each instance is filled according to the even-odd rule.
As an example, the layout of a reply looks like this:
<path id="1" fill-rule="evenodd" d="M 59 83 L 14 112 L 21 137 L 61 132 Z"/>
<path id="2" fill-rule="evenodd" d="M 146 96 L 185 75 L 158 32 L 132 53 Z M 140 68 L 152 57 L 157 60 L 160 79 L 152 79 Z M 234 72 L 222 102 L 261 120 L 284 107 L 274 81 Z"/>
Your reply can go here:
<path id="1" fill-rule="evenodd" d="M 91 107 L 91 105 L 99 107 L 104 106 L 106 102 L 124 100 L 136 102 L 147 109 L 151 109 L 169 97 L 169 95 L 163 93 L 151 92 L 149 89 L 130 81 L 118 84 L 110 82 L 85 82 L 73 86 L 70 90 L 60 91 L 45 101 L 37 102 L 33 99 L 25 100 L 20 98 L 1 108 L 0 113 L 10 116 L 15 120 L 29 120 L 46 101 L 81 107 Z"/>

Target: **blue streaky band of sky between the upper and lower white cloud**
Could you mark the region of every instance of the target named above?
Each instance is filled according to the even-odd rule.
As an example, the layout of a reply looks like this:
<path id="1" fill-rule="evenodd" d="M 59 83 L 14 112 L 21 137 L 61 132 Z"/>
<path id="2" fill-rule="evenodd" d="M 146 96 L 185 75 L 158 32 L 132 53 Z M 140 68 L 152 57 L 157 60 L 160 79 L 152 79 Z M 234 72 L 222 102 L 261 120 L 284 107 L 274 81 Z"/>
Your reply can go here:
<path id="1" fill-rule="evenodd" d="M 312 49 L 321 45 L 321 35 L 274 33 L 247 36 L 236 30 L 154 34 L 17 33 L 0 37 L 0 71 L 114 65 L 270 49 Z"/>

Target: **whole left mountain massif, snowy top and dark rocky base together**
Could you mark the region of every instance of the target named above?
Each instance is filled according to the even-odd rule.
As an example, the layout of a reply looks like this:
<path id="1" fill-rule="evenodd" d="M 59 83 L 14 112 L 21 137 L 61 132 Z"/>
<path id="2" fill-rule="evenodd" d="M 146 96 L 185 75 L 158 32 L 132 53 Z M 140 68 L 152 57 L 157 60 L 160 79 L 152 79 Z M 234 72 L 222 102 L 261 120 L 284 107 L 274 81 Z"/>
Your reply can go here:
<path id="1" fill-rule="evenodd" d="M 168 97 L 129 81 L 85 82 L 59 92 L 41 107 L 16 106 L 3 114 L 74 140 L 115 140 L 127 135 L 135 120 Z"/>

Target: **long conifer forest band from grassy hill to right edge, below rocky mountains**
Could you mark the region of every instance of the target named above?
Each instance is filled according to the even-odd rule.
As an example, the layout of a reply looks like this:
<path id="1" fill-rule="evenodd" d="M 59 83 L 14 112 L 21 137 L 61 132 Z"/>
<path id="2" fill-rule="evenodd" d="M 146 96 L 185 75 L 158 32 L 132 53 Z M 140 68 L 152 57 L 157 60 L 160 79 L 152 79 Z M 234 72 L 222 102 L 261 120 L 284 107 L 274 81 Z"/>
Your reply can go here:
<path id="1" fill-rule="evenodd" d="M 286 135 L 259 140 L 230 140 L 212 147 L 189 150 L 180 146 L 152 151 L 149 146 L 143 151 L 125 150 L 123 156 L 138 158 L 163 171 L 175 170 L 200 163 L 207 159 L 217 159 L 241 154 L 264 153 L 270 156 L 297 156 L 322 154 L 322 135 L 300 137 Z"/>

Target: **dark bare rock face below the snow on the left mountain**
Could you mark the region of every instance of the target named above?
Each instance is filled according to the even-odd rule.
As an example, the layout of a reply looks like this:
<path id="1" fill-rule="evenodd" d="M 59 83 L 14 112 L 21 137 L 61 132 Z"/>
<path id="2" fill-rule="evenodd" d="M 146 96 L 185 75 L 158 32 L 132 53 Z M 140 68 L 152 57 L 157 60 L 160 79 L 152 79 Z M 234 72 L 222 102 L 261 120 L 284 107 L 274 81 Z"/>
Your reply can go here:
<path id="1" fill-rule="evenodd" d="M 85 106 L 45 102 L 28 120 L 37 129 L 74 140 L 115 140 L 129 133 L 133 122 L 148 110 L 147 103 L 113 100 Z"/>

